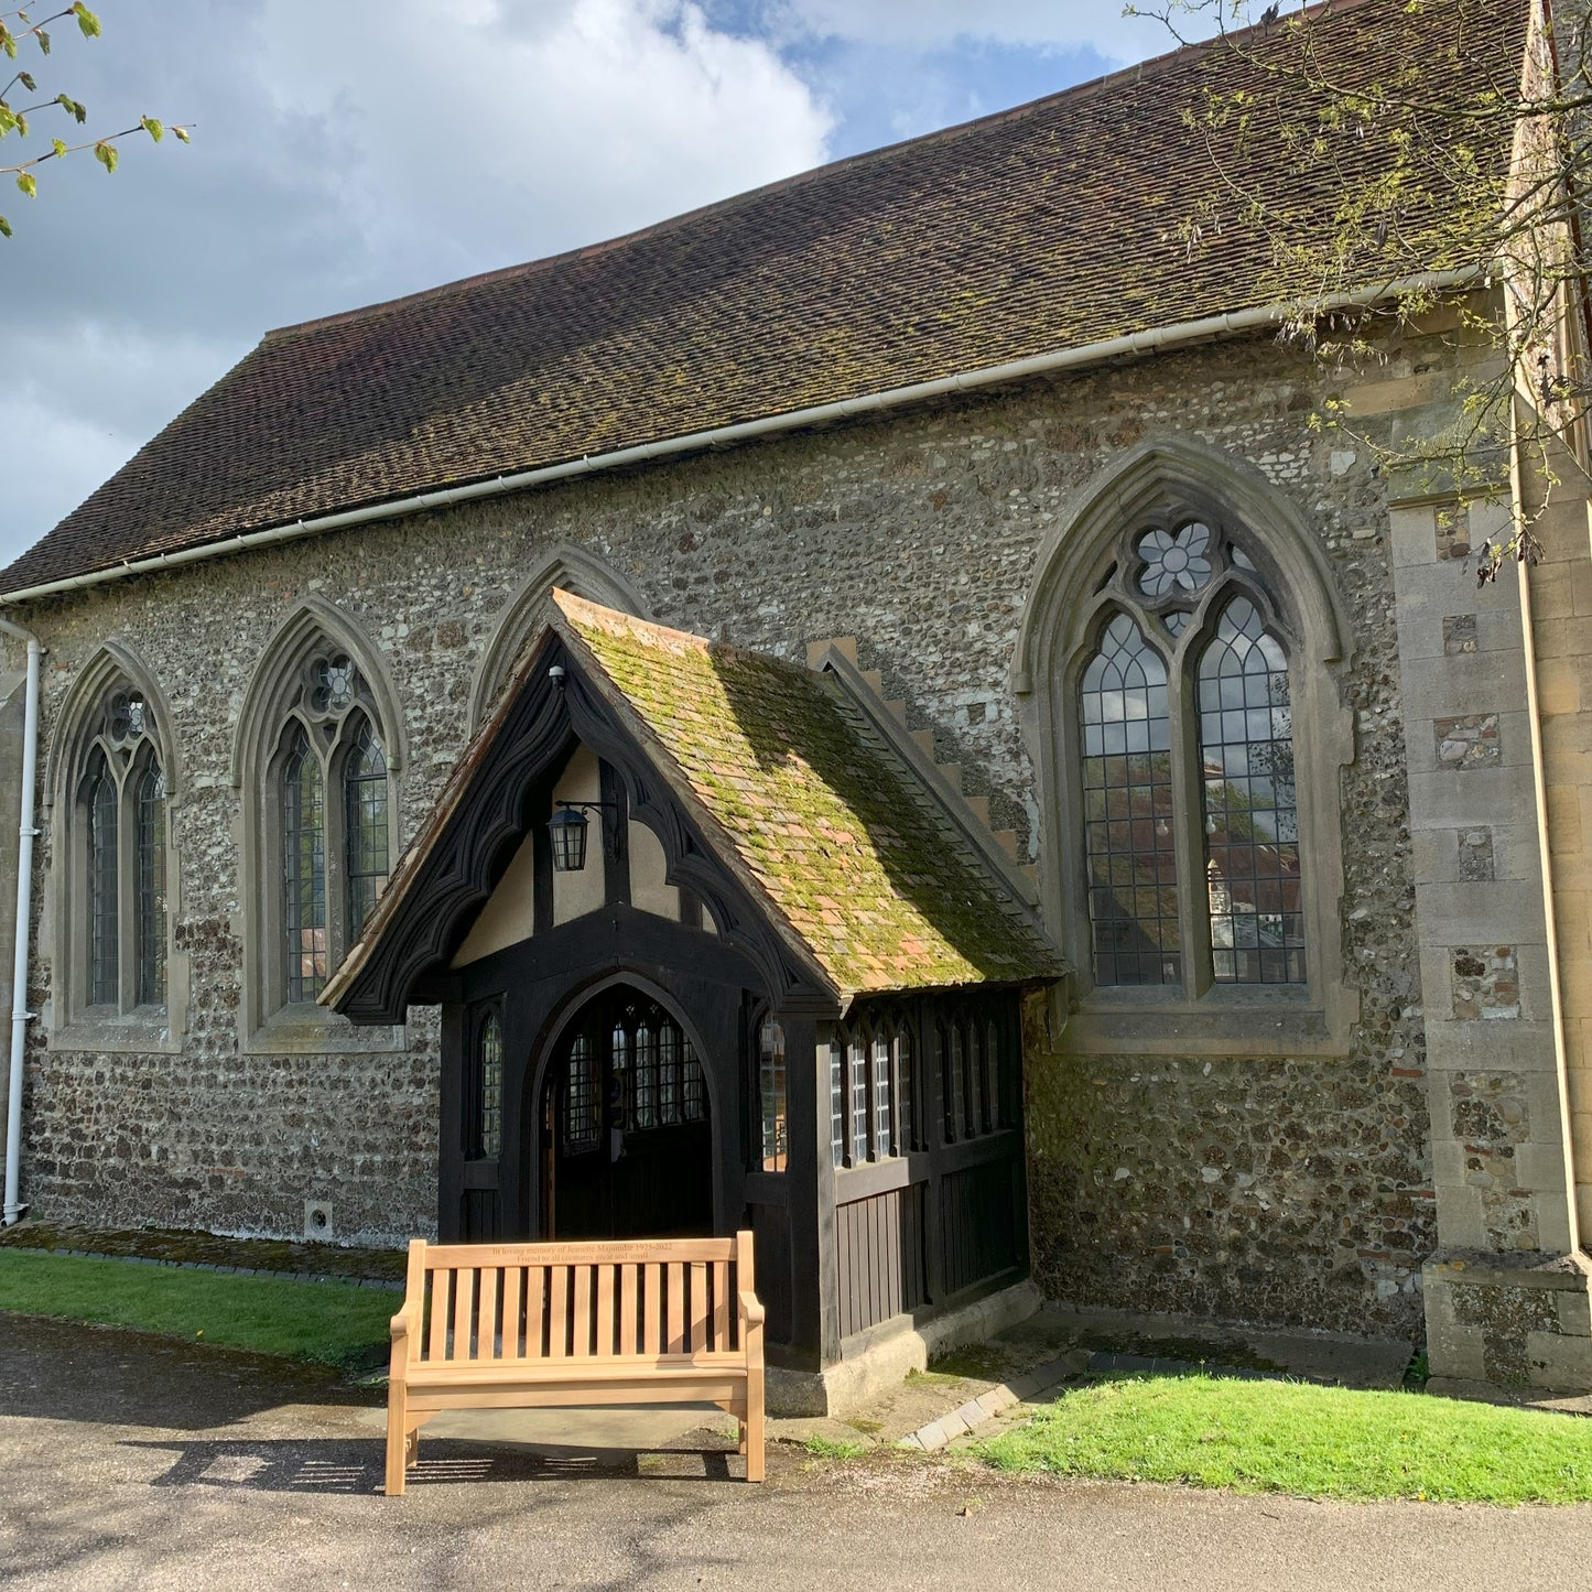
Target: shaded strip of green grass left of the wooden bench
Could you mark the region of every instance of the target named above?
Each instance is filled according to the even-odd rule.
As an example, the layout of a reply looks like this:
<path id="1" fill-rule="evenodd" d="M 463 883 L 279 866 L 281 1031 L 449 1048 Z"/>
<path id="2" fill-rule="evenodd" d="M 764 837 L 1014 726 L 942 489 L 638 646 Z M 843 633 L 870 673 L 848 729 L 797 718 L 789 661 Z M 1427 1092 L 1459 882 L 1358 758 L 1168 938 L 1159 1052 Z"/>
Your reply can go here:
<path id="1" fill-rule="evenodd" d="M 333 1366 L 379 1363 L 401 1302 L 385 1288 L 352 1283 L 0 1250 L 0 1310 L 135 1326 Z"/>

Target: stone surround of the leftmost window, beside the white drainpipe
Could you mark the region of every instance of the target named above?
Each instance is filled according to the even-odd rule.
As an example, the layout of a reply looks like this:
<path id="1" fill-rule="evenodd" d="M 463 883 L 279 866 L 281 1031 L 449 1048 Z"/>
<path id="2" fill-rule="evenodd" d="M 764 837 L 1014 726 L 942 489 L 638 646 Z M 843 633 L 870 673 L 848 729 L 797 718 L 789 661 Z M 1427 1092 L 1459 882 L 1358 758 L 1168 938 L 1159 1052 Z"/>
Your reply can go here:
<path id="1" fill-rule="evenodd" d="M 143 739 L 148 751 L 137 748 L 132 767 L 119 780 L 116 804 L 116 871 L 118 946 L 121 947 L 118 982 L 123 989 L 121 1011 L 88 1005 L 88 812 L 83 807 L 83 782 L 89 756 L 103 747 L 113 758 L 100 726 L 107 700 L 118 691 L 142 696 L 148 704 L 148 728 Z M 135 864 L 132 845 L 132 802 L 137 769 L 153 756 L 166 780 L 166 1003 L 162 1006 L 132 1005 L 135 979 L 134 958 L 134 890 Z M 48 1006 L 49 1048 L 59 1052 L 164 1054 L 177 1055 L 183 1046 L 188 1014 L 188 962 L 175 947 L 175 927 L 181 903 L 181 879 L 177 847 L 177 806 L 181 780 L 177 761 L 172 712 L 153 673 L 126 643 L 103 643 L 80 670 L 60 707 L 56 734 L 51 737 L 45 769 L 45 801 L 51 815 L 54 844 L 48 904 L 53 930 L 40 938 L 54 947 L 51 968 L 51 1000 Z"/>

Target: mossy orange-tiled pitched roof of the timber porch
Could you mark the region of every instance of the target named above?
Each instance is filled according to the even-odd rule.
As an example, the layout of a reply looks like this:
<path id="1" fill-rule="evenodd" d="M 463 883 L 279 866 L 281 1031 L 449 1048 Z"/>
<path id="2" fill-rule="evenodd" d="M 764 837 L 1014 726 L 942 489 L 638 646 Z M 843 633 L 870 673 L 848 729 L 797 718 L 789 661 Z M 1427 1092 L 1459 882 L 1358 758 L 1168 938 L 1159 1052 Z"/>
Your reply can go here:
<path id="1" fill-rule="evenodd" d="M 836 992 L 1033 984 L 1063 971 L 941 802 L 828 677 L 554 592 L 572 662 L 650 756 L 715 855 Z M 458 759 L 365 936 L 339 1005 L 460 809 L 538 650 Z"/>

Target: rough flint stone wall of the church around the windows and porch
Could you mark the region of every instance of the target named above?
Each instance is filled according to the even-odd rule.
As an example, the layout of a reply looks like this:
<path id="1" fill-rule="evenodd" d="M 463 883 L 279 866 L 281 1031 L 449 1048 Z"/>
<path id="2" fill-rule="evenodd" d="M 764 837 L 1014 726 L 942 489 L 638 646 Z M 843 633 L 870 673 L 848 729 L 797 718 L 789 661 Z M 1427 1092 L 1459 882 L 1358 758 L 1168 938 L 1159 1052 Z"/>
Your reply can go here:
<path id="1" fill-rule="evenodd" d="M 1395 350 L 1393 368 L 1399 355 Z M 1407 363 L 1407 361 L 1406 361 Z M 1145 436 L 1197 436 L 1294 495 L 1353 616 L 1344 689 L 1344 955 L 1352 1052 L 1103 1063 L 1028 1057 L 1035 1254 L 1049 1291 L 1321 1326 L 1409 1326 L 1433 1248 L 1420 995 L 1387 513 L 1369 463 L 1312 431 L 1326 395 L 1270 339 L 1102 369 L 721 455 L 594 478 L 221 557 L 40 603 L 51 736 L 102 640 L 164 686 L 186 772 L 172 820 L 191 1000 L 180 1057 L 51 1054 L 35 1028 L 25 1183 L 60 1219 L 296 1234 L 330 1197 L 342 1237 L 435 1221 L 430 1022 L 392 1054 L 239 1048 L 239 793 L 229 759 L 250 673 L 310 595 L 385 654 L 408 718 L 411 834 L 466 736 L 471 673 L 524 572 L 575 543 L 664 622 L 801 659 L 855 635 L 884 694 L 1044 858 L 1008 683 L 1024 597 L 1068 497 Z M 56 844 L 46 820 L 41 861 Z M 38 903 L 43 903 L 40 869 Z M 48 944 L 48 938 L 46 938 Z M 48 995 L 49 965 L 35 965 Z M 1118 1169 L 1127 1176 L 1119 1178 Z"/>

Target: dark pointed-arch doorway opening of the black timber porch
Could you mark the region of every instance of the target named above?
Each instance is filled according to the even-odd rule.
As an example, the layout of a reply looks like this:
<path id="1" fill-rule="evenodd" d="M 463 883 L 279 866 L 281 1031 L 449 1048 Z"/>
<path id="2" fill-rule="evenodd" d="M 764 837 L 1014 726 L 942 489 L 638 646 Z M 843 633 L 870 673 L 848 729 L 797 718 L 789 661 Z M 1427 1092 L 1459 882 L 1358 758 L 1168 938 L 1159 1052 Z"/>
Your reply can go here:
<path id="1" fill-rule="evenodd" d="M 629 984 L 564 1025 L 537 1110 L 543 1239 L 713 1231 L 713 1122 L 702 1059 L 662 1001 Z"/>

